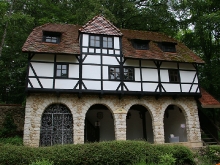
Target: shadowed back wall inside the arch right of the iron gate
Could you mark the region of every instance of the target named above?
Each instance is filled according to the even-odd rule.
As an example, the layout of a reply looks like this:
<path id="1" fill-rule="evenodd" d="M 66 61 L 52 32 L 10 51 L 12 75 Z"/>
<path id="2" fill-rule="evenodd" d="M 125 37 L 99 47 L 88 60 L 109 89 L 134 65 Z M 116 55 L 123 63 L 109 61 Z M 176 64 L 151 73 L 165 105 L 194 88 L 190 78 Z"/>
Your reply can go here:
<path id="1" fill-rule="evenodd" d="M 102 119 L 97 118 L 97 112 L 103 113 Z M 86 117 L 88 117 L 93 126 L 96 121 L 100 122 L 100 141 L 115 140 L 114 119 L 109 110 L 89 110 L 86 113 Z"/>

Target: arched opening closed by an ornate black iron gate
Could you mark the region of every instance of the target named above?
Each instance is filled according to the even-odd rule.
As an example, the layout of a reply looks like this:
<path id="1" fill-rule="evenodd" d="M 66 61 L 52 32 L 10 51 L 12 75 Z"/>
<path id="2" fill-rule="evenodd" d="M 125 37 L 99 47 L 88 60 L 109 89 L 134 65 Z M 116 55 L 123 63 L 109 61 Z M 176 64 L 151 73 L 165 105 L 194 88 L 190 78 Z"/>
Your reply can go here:
<path id="1" fill-rule="evenodd" d="M 48 106 L 41 118 L 40 146 L 73 143 L 73 116 L 63 104 Z"/>

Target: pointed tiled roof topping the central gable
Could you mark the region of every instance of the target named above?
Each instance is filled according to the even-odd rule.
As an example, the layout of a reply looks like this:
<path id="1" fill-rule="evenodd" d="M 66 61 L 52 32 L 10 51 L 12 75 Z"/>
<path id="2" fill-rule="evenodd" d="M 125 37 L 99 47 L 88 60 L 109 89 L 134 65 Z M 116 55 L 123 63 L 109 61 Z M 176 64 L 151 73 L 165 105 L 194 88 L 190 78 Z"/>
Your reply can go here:
<path id="1" fill-rule="evenodd" d="M 94 17 L 79 30 L 84 33 L 122 36 L 120 30 L 103 16 Z"/>

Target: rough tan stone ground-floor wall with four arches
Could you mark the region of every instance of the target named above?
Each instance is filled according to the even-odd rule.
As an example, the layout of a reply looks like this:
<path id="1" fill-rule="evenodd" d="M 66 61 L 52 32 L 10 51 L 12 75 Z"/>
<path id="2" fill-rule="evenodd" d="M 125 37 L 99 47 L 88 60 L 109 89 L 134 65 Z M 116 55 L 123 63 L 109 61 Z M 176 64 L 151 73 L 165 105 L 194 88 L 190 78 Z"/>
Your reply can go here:
<path id="1" fill-rule="evenodd" d="M 113 113 L 115 125 L 115 139 L 126 140 L 126 114 L 130 107 L 139 104 L 147 108 L 152 118 L 154 143 L 164 143 L 164 112 L 168 105 L 173 104 L 182 109 L 186 119 L 188 143 L 201 144 L 200 124 L 197 104 L 193 97 L 142 97 L 83 95 L 78 98 L 73 94 L 32 94 L 26 101 L 26 116 L 24 125 L 24 144 L 38 147 L 40 140 L 41 116 L 45 108 L 51 104 L 61 103 L 66 105 L 73 114 L 73 140 L 74 144 L 84 143 L 84 120 L 86 112 L 94 104 L 103 104 Z"/>

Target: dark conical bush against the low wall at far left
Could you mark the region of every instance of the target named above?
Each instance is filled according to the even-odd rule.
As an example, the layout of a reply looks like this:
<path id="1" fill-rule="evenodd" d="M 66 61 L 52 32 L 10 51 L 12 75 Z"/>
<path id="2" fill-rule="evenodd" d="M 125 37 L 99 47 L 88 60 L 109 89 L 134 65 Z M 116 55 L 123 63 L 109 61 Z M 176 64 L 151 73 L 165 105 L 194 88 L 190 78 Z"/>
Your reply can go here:
<path id="1" fill-rule="evenodd" d="M 0 129 L 0 137 L 13 137 L 16 135 L 17 125 L 14 123 L 14 119 L 11 113 L 5 115 L 2 128 Z"/>

